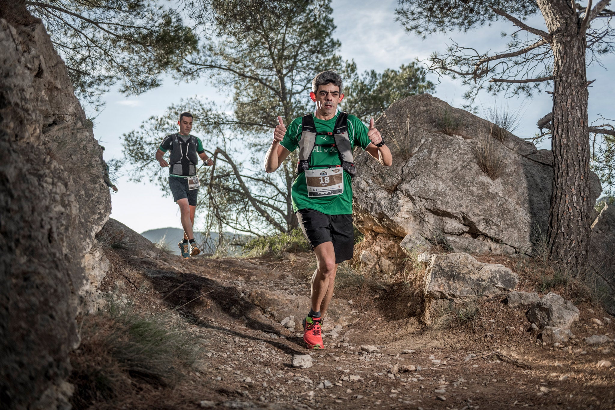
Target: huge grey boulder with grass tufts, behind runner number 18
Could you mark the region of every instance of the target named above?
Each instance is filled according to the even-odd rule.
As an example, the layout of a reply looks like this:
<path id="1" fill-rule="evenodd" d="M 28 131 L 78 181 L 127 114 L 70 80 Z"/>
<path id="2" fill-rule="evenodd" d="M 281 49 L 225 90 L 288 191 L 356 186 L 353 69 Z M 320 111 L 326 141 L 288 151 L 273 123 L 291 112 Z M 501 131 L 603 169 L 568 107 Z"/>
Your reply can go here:
<path id="1" fill-rule="evenodd" d="M 439 129 L 444 116 L 458 120 L 454 135 Z M 393 165 L 383 170 L 357 152 L 352 184 L 360 231 L 404 238 L 411 251 L 427 240 L 456 252 L 531 254 L 548 223 L 550 151 L 512 134 L 500 142 L 490 135 L 493 124 L 428 94 L 392 104 L 376 126 L 392 148 Z M 486 141 L 504 166 L 496 179 L 477 162 Z M 591 175 L 593 201 L 601 187 Z"/>

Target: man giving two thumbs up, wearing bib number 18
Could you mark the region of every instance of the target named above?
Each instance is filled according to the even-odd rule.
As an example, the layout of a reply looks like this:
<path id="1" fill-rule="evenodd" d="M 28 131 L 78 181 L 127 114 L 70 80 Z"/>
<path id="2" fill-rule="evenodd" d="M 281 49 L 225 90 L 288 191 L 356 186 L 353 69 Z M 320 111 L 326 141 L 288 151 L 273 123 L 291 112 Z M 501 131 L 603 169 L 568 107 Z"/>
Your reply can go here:
<path id="1" fill-rule="evenodd" d="M 343 100 L 342 79 L 335 71 L 323 71 L 312 81 L 316 111 L 293 119 L 288 129 L 281 117 L 265 158 L 265 170 L 273 172 L 300 148 L 298 175 L 292 187 L 293 211 L 316 254 L 312 276 L 312 302 L 303 320 L 303 340 L 308 349 L 322 349 L 320 323 L 327 311 L 339 263 L 352 258 L 352 151 L 360 145 L 384 166 L 391 166 L 391 151 L 370 120 L 365 127 L 355 116 L 339 112 Z"/>

